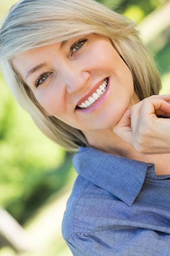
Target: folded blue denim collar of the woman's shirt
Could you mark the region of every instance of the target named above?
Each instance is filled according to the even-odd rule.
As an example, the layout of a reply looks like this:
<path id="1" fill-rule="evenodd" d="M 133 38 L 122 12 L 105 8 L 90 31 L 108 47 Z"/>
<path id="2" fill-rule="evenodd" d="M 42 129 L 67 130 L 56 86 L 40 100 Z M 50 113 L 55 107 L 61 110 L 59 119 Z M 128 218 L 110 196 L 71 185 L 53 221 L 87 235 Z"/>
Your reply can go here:
<path id="1" fill-rule="evenodd" d="M 154 164 L 104 153 L 94 148 L 79 148 L 73 166 L 84 179 L 117 196 L 129 206 L 137 197 L 149 167 Z"/>

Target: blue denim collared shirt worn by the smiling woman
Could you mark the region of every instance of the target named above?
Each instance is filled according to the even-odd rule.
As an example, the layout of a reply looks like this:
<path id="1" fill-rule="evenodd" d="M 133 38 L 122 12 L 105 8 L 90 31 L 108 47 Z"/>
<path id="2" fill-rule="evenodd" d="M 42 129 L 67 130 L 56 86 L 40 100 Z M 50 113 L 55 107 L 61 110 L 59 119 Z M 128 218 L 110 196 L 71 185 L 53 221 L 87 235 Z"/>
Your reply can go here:
<path id="1" fill-rule="evenodd" d="M 170 256 L 170 175 L 80 148 L 62 234 L 74 256 Z"/>

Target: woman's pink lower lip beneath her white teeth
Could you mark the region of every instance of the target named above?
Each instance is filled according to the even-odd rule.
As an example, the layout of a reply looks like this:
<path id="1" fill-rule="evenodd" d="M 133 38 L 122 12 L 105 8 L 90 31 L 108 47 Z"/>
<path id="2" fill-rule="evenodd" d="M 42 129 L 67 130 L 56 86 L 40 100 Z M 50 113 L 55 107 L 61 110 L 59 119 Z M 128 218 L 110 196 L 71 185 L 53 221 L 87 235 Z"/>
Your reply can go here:
<path id="1" fill-rule="evenodd" d="M 102 94 L 102 96 L 99 99 L 97 99 L 97 101 L 95 101 L 90 107 L 77 108 L 76 111 L 80 111 L 83 113 L 91 113 L 101 107 L 101 105 L 104 103 L 104 101 L 106 100 L 106 98 L 108 97 L 108 94 L 110 92 L 110 79 L 109 79 L 109 77 L 107 79 L 108 79 L 108 84 L 107 84 L 106 91 L 104 92 L 104 94 Z"/>

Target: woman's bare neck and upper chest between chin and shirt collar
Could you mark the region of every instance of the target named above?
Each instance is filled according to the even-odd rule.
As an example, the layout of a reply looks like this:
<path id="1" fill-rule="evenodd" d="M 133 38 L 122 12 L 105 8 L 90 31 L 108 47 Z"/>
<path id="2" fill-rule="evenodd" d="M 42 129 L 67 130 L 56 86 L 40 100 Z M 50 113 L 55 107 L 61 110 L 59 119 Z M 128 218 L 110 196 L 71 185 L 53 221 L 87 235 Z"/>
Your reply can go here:
<path id="1" fill-rule="evenodd" d="M 94 134 L 93 132 L 88 132 L 85 136 L 88 139 L 88 143 L 98 150 L 141 162 L 153 163 L 155 164 L 156 175 L 170 174 L 170 160 L 168 160 L 170 159 L 170 154 L 143 155 L 115 135 L 112 128 L 95 131 Z"/>

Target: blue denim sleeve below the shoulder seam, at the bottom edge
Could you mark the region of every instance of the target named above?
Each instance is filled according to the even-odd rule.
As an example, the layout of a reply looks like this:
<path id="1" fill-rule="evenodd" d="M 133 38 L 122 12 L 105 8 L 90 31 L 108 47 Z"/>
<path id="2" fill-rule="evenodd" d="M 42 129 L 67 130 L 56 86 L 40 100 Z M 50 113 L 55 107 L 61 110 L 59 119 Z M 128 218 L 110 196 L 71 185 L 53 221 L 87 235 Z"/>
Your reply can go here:
<path id="1" fill-rule="evenodd" d="M 73 256 L 170 255 L 169 234 L 134 227 L 74 233 L 67 244 Z"/>

